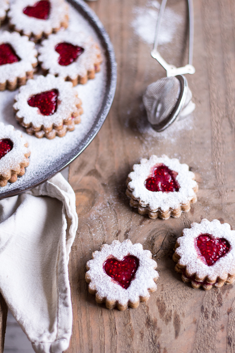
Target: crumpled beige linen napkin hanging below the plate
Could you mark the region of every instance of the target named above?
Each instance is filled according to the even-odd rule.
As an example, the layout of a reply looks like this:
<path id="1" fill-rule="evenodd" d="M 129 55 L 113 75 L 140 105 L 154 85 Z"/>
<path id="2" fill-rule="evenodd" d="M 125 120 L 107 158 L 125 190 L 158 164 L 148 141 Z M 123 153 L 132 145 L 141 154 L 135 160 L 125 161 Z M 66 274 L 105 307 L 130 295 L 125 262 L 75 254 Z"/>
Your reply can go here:
<path id="1" fill-rule="evenodd" d="M 37 353 L 69 346 L 68 260 L 77 227 L 75 194 L 61 174 L 0 201 L 0 291 Z"/>

